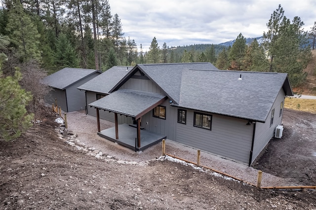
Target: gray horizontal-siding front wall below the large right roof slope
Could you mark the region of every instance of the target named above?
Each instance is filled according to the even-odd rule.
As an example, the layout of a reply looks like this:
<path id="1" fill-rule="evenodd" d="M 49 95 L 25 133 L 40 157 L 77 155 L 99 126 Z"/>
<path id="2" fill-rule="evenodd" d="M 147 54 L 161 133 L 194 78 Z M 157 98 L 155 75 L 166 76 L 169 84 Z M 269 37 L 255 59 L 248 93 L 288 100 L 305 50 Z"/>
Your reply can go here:
<path id="1" fill-rule="evenodd" d="M 246 125 L 247 122 L 212 114 L 211 130 L 202 129 L 194 127 L 194 111 L 187 109 L 186 124 L 177 123 L 176 141 L 221 157 L 248 163 L 253 125 Z"/>

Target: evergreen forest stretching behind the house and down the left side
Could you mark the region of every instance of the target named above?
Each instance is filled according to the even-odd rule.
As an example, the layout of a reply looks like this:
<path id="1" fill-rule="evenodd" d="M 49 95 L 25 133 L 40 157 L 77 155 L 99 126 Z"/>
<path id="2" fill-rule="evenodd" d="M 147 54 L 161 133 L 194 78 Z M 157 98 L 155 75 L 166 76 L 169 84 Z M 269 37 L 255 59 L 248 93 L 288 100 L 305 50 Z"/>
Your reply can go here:
<path id="1" fill-rule="evenodd" d="M 303 83 L 315 26 L 303 31 L 300 17 L 289 20 L 281 5 L 273 11 L 262 42 L 246 43 L 240 33 L 229 46 L 169 47 L 153 37 L 148 51 L 125 37 L 108 0 L 1 0 L 0 136 L 11 139 L 37 115 L 49 91 L 40 79 L 65 67 L 105 71 L 142 63 L 210 62 L 220 70 L 287 72 L 293 87 Z M 308 40 L 313 39 L 313 46 Z"/>

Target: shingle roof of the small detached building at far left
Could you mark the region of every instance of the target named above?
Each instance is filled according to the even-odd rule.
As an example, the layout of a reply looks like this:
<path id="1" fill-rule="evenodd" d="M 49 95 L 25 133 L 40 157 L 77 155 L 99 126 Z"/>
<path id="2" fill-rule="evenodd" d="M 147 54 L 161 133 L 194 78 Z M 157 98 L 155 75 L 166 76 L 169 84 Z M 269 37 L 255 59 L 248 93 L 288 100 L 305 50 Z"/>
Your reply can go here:
<path id="1" fill-rule="evenodd" d="M 95 72 L 100 71 L 90 69 L 64 68 L 43 78 L 42 83 L 63 90 Z"/>

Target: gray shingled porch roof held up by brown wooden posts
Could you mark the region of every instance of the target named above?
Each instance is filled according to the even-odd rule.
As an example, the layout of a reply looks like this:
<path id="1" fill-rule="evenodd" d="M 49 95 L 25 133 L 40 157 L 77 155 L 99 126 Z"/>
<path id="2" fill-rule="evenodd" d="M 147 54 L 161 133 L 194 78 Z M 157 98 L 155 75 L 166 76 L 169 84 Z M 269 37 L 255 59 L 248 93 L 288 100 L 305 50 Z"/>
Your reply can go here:
<path id="1" fill-rule="evenodd" d="M 89 105 L 138 119 L 166 99 L 167 96 L 164 94 L 119 89 Z"/>

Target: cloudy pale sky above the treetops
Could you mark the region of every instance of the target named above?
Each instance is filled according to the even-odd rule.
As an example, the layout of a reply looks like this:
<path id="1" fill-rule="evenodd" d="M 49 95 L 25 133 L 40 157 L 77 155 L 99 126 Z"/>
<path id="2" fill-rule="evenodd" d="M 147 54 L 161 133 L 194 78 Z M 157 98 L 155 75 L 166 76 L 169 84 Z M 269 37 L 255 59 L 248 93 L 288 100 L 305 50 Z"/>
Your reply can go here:
<path id="1" fill-rule="evenodd" d="M 118 14 L 124 37 L 148 51 L 154 37 L 161 48 L 191 44 L 220 44 L 267 32 L 271 14 L 281 7 L 310 31 L 316 21 L 316 0 L 109 0 Z"/>

